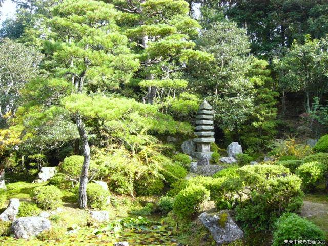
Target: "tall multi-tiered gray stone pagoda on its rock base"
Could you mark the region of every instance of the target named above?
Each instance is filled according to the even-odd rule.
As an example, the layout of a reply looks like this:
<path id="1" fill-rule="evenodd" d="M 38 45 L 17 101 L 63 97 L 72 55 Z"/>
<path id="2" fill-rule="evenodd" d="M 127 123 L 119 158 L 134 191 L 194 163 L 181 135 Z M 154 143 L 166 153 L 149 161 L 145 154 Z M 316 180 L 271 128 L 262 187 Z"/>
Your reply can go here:
<path id="1" fill-rule="evenodd" d="M 214 142 L 214 127 L 213 127 L 213 107 L 204 100 L 199 106 L 196 115 L 196 127 L 194 134 L 197 138 L 194 139 L 196 151 L 191 154 L 193 157 L 200 159 L 202 156 L 211 159 L 213 152 L 211 152 L 210 144 Z"/>

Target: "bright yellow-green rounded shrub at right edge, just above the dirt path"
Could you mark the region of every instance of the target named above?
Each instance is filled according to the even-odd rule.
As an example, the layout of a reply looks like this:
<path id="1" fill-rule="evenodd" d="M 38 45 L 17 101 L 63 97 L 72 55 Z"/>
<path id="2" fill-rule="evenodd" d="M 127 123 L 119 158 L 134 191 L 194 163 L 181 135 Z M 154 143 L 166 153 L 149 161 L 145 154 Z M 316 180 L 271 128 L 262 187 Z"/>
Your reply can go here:
<path id="1" fill-rule="evenodd" d="M 313 161 L 304 163 L 296 169 L 296 175 L 302 179 L 304 190 L 313 190 L 316 185 L 324 182 L 324 174 L 327 171 L 325 165 L 320 162 Z"/>

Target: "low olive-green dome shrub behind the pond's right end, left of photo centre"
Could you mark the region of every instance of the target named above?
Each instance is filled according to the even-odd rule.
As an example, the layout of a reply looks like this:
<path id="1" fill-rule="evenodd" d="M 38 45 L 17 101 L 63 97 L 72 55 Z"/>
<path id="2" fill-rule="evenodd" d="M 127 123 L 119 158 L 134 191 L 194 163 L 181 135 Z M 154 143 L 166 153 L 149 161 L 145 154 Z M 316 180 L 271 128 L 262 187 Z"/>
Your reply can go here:
<path id="1" fill-rule="evenodd" d="M 134 190 L 138 196 L 160 195 L 163 188 L 163 181 L 153 174 L 141 175 L 134 181 Z"/>

